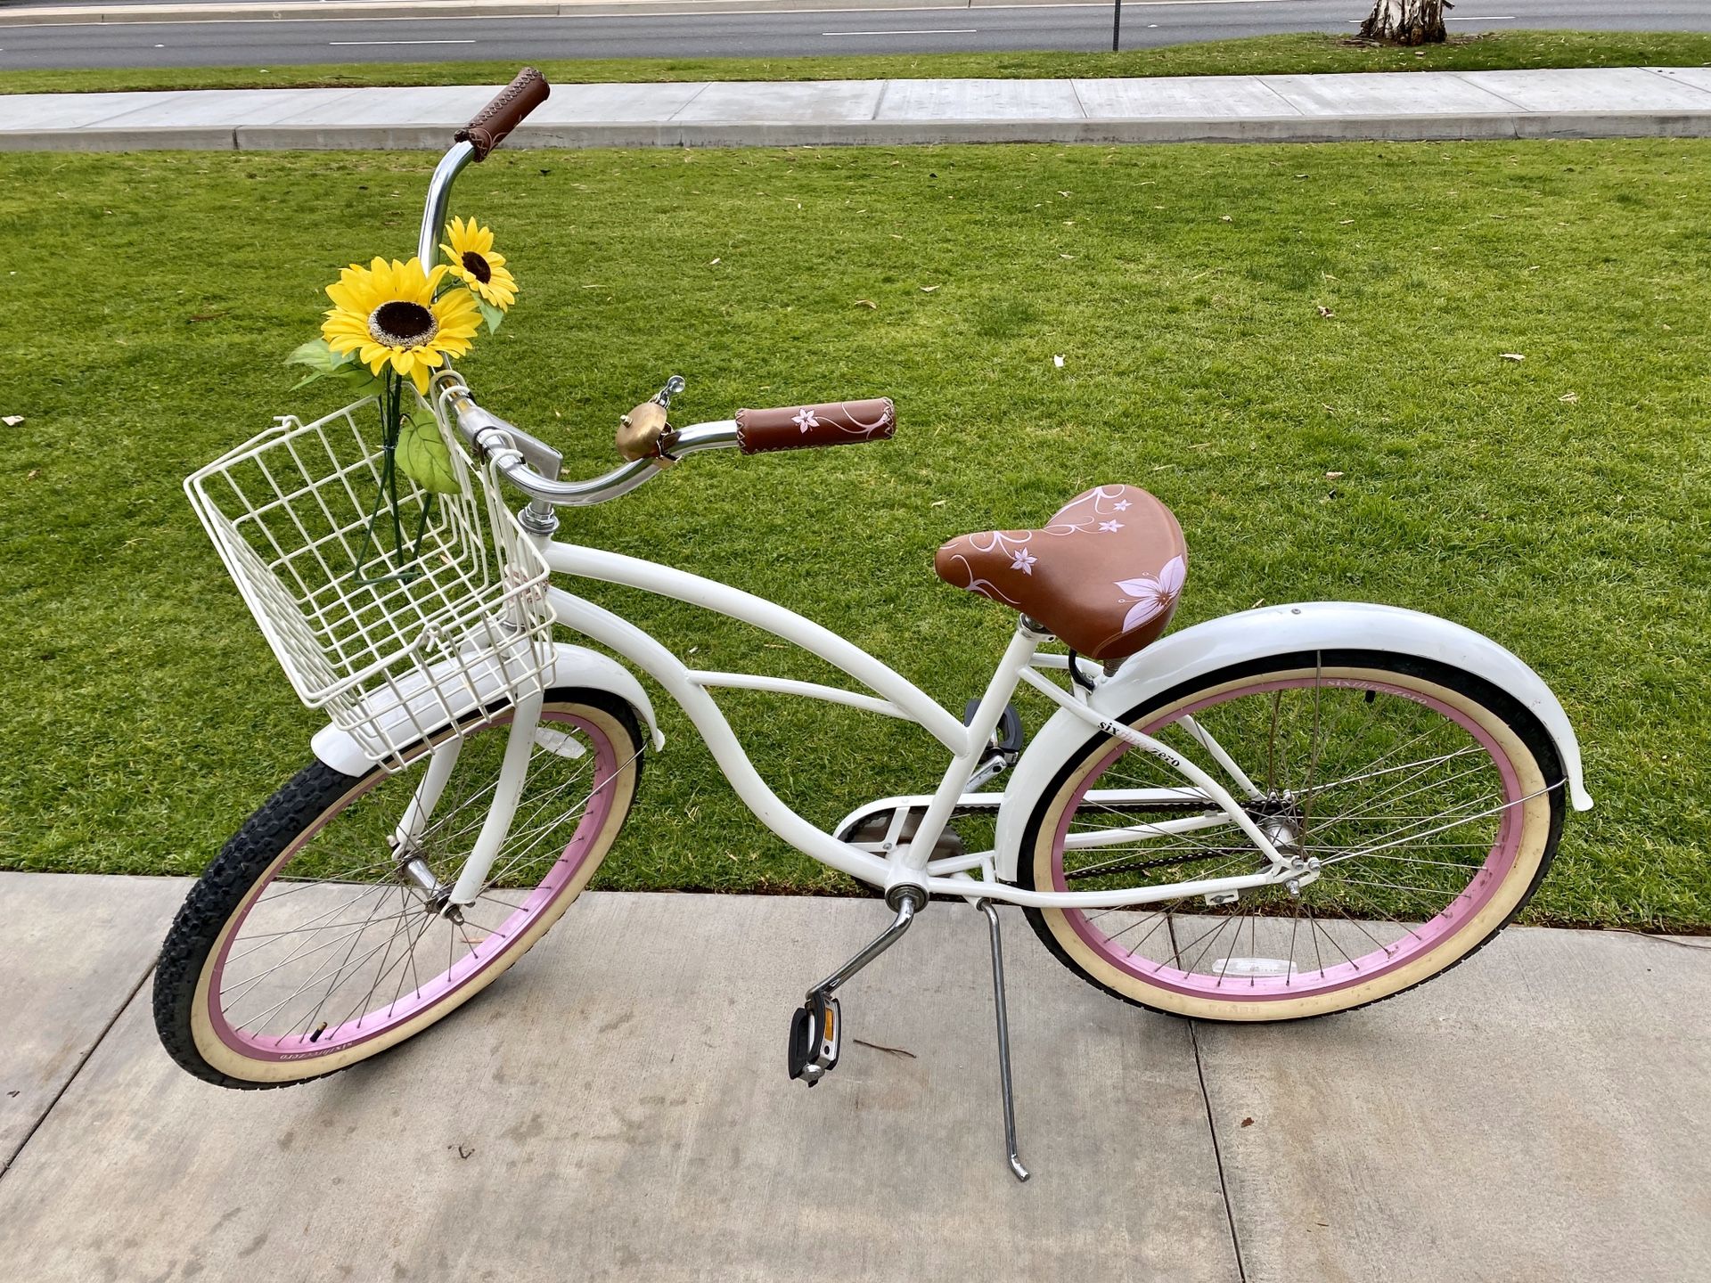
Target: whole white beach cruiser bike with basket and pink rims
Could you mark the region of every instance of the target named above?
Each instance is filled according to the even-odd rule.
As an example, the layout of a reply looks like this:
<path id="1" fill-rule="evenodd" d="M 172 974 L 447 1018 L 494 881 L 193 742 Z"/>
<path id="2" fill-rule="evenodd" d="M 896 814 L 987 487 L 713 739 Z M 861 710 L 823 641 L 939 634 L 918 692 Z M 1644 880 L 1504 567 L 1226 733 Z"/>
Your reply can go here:
<path id="1" fill-rule="evenodd" d="M 525 72 L 459 133 L 428 193 L 423 262 L 455 176 L 544 98 Z M 376 1055 L 481 992 L 565 913 L 618 838 L 647 744 L 664 741 L 630 669 L 554 640 L 554 626 L 659 683 L 767 828 L 878 888 L 895 913 L 792 1013 L 792 1078 L 813 1085 L 837 1066 L 835 992 L 934 896 L 984 912 L 1020 1179 L 994 903 L 1021 905 L 1059 961 L 1131 1002 L 1199 1020 L 1319 1016 L 1478 949 L 1538 886 L 1566 804 L 1591 806 L 1555 696 L 1458 624 L 1304 602 L 1162 636 L 1186 547 L 1134 486 L 1097 486 L 1039 529 L 939 549 L 948 583 L 1016 612 L 963 717 L 761 597 L 556 541 L 558 508 L 616 500 L 703 450 L 876 441 L 897 426 L 891 402 L 871 399 L 676 428 L 681 390 L 672 378 L 623 419 L 619 467 L 565 481 L 553 448 L 441 370 L 423 402 L 455 493 L 404 484 L 421 537 L 382 547 L 383 575 L 358 573 L 376 556 L 370 402 L 281 419 L 190 477 L 293 686 L 332 717 L 315 761 L 231 838 L 163 948 L 156 1021 L 192 1074 L 282 1086 Z M 505 488 L 527 496 L 515 515 Z M 558 578 L 755 624 L 866 691 L 691 669 Z M 1023 684 L 1054 705 L 1025 748 L 1009 703 Z M 932 792 L 866 802 L 821 830 L 755 772 L 717 688 L 902 718 L 950 765 Z M 970 850 L 972 831 L 989 845 Z"/>

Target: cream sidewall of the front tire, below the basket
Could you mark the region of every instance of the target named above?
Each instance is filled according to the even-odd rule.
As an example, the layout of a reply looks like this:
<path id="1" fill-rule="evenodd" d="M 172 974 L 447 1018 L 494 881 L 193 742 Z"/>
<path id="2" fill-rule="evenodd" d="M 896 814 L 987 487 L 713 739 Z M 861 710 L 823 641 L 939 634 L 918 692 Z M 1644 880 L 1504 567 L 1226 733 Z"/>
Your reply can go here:
<path id="1" fill-rule="evenodd" d="M 630 730 L 611 713 L 592 708 L 580 703 L 551 703 L 546 708 L 556 712 L 573 712 L 577 717 L 587 718 L 601 727 L 601 730 L 611 739 L 614 746 L 631 744 L 635 741 Z M 542 710 L 544 712 L 544 710 Z M 481 972 L 472 975 L 464 985 L 455 992 L 448 994 L 445 1001 L 428 1008 L 419 1016 L 394 1030 L 387 1030 L 364 1042 L 352 1044 L 351 1047 L 334 1052 L 325 1057 L 311 1057 L 303 1061 L 260 1061 L 228 1045 L 219 1033 L 214 1030 L 214 1023 L 209 1018 L 209 984 L 214 973 L 216 960 L 224 953 L 226 941 L 231 936 L 234 925 L 243 920 L 255 896 L 269 884 L 279 867 L 293 859 L 303 843 L 313 837 L 329 819 L 332 819 L 339 811 L 342 811 L 349 802 L 368 792 L 373 787 L 373 777 L 363 777 L 356 785 L 351 787 L 344 797 L 335 801 L 325 811 L 322 811 L 315 821 L 303 831 L 303 835 L 293 842 L 267 871 L 255 879 L 255 884 L 243 896 L 238 908 L 226 919 L 226 925 L 221 927 L 219 936 L 214 941 L 214 948 L 209 949 L 207 960 L 202 963 L 202 973 L 197 977 L 195 1002 L 190 1011 L 190 1032 L 195 1038 L 197 1052 L 207 1061 L 214 1069 L 228 1074 L 231 1078 L 240 1078 L 250 1083 L 296 1083 L 305 1078 L 320 1078 L 323 1074 L 337 1073 L 346 1069 L 358 1061 L 366 1061 L 371 1055 L 397 1047 L 406 1038 L 421 1033 L 424 1028 L 435 1021 L 443 1020 L 457 1008 L 464 1006 L 469 999 L 486 989 L 489 984 L 498 980 L 512 965 L 522 958 L 529 949 L 539 941 L 548 929 L 558 922 L 565 910 L 582 895 L 582 890 L 589 884 L 589 879 L 599 871 L 601 864 L 606 860 L 606 854 L 613 848 L 613 842 L 618 838 L 618 830 L 623 828 L 625 818 L 630 814 L 630 804 L 635 801 L 636 790 L 636 761 L 630 761 L 618 775 L 618 795 L 613 799 L 613 807 L 606 816 L 606 823 L 601 826 L 601 833 L 590 847 L 589 854 L 583 857 L 582 866 L 577 869 L 575 878 L 570 879 L 566 888 L 558 895 L 558 898 L 546 908 L 541 917 L 537 917 L 529 931 L 518 936 L 491 965 L 484 967 Z"/>

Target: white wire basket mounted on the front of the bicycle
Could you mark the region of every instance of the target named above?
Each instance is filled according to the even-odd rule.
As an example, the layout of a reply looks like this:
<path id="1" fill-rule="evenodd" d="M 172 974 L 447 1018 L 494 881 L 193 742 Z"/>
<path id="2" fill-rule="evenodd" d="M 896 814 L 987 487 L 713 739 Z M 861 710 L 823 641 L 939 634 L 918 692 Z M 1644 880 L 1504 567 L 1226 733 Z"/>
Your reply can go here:
<path id="1" fill-rule="evenodd" d="M 453 493 L 387 467 L 373 397 L 281 417 L 185 481 L 291 688 L 388 768 L 542 689 L 553 664 L 546 563 L 498 481 L 436 428 Z"/>

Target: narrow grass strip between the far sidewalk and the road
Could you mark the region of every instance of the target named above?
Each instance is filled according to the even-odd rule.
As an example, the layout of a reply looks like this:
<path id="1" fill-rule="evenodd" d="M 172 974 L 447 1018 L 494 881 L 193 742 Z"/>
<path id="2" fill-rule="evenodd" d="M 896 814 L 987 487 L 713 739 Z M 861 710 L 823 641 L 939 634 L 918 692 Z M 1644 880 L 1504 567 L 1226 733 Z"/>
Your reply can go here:
<path id="1" fill-rule="evenodd" d="M 1704 67 L 1711 36 L 1678 31 L 1502 31 L 1403 50 L 1304 33 L 1126 53 L 900 53 L 823 58 L 582 58 L 542 62 L 554 82 L 838 80 L 873 77 L 1295 75 L 1305 72 L 1478 72 L 1513 67 Z M 0 72 L 0 94 L 118 89 L 281 89 L 505 84 L 510 62 L 342 63 Z"/>

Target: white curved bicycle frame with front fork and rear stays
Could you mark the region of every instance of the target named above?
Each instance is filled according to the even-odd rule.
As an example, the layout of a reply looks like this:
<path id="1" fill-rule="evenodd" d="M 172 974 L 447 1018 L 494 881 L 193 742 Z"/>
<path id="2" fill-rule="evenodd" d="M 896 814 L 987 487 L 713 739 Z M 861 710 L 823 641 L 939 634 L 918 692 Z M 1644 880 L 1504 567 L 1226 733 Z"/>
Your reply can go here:
<path id="1" fill-rule="evenodd" d="M 893 886 L 907 884 L 922 888 L 929 895 L 946 893 L 968 898 L 970 902 L 989 898 L 1042 908 L 1110 908 L 1117 905 L 1136 905 L 1186 896 L 1220 896 L 1290 879 L 1311 881 L 1316 876 L 1304 867 L 1300 860 L 1292 862 L 1285 855 L 1278 854 L 1271 840 L 1259 830 L 1228 789 L 1225 789 L 1225 785 L 1222 785 L 1201 766 L 1186 760 L 1165 744 L 1160 744 L 1152 736 L 1109 722 L 1075 693 L 1064 693 L 1056 683 L 1040 676 L 1037 669 L 1066 667 L 1068 660 L 1063 655 L 1040 653 L 1039 647 L 1049 635 L 1032 628 L 1028 621 L 1021 621 L 1018 624 L 1009 647 L 1004 650 L 1004 655 L 998 662 L 998 669 L 987 683 L 986 693 L 982 695 L 972 720 L 963 725 L 956 717 L 946 712 L 939 703 L 895 669 L 881 664 L 866 650 L 856 647 L 837 633 L 796 614 L 794 611 L 787 611 L 775 602 L 724 583 L 717 583 L 700 575 L 659 565 L 655 561 L 606 553 L 594 547 L 582 547 L 577 544 L 565 544 L 546 537 L 537 539 L 546 563 L 554 573 L 640 588 L 643 592 L 702 606 L 715 611 L 717 614 L 755 624 L 784 642 L 818 655 L 873 691 L 873 695 L 864 695 L 861 691 L 821 686 L 818 683 L 794 681 L 787 677 L 691 669 L 659 640 L 628 619 L 623 619 L 621 616 L 613 614 L 590 600 L 577 597 L 561 587 L 554 585 L 548 590 L 548 600 L 551 602 L 553 614 L 559 623 L 604 647 L 609 647 L 666 688 L 672 700 L 676 700 L 684 713 L 688 713 L 695 729 L 707 741 L 707 746 L 713 753 L 713 760 L 719 763 L 719 768 L 724 772 L 732 789 L 755 813 L 755 816 L 767 825 L 767 828 L 802 854 L 849 874 L 850 878 L 857 878 L 859 881 L 886 891 Z M 1104 674 L 1100 674 L 1100 677 L 1102 676 Z M 1016 688 L 1023 683 L 1040 691 L 1059 708 L 1069 710 L 1075 717 L 1086 722 L 1090 729 L 1104 730 L 1105 734 L 1117 736 L 1119 739 L 1134 744 L 1172 766 L 1184 778 L 1182 789 L 1102 790 L 1098 801 L 1105 804 L 1146 804 L 1162 799 L 1181 802 L 1187 797 L 1189 801 L 1203 801 L 1206 804 L 1205 816 L 1186 816 L 1181 819 L 1143 823 L 1138 826 L 1104 830 L 1100 833 L 1076 835 L 1076 845 L 1138 843 L 1150 838 L 1163 838 L 1174 833 L 1193 831 L 1198 828 L 1217 828 L 1234 823 L 1254 843 L 1256 859 L 1263 859 L 1266 867 L 1251 874 L 1208 878 L 1122 891 L 1030 891 L 998 881 L 991 850 L 939 860 L 929 859 L 939 835 L 944 831 L 944 826 L 956 807 L 1003 807 L 1003 794 L 968 792 L 968 789 L 970 782 L 974 782 L 975 772 L 980 768 L 982 758 L 987 756 L 992 732 L 1003 717 L 1004 707 L 1009 703 Z M 828 703 L 847 705 L 864 712 L 883 713 L 886 717 L 914 722 L 939 741 L 939 744 L 951 753 L 951 760 L 932 794 L 885 799 L 883 802 L 869 804 L 866 807 L 859 807 L 857 813 L 852 813 L 862 814 L 876 809 L 893 813 L 891 833 L 888 835 L 888 840 L 881 843 L 881 852 L 876 854 L 867 850 L 864 845 L 837 838 L 833 835 L 837 830 L 826 831 L 818 828 L 779 799 L 779 795 L 755 770 L 755 765 L 749 761 L 741 741 L 731 729 L 729 720 L 720 712 L 712 695 L 708 695 L 710 689 L 717 688 L 773 691 L 779 695 L 825 700 Z M 471 857 L 465 860 L 452 891 L 450 898 L 453 903 L 472 903 L 481 893 L 493 859 L 496 857 L 505 831 L 510 826 L 512 811 L 517 806 L 529 766 L 529 749 L 539 713 L 539 696 L 525 701 L 525 705 L 534 707 L 520 705 L 517 710 L 517 717 L 510 730 L 510 741 L 506 744 L 505 765 L 500 773 L 498 787 L 494 789 L 493 806 L 488 813 L 483 833 L 477 838 Z M 1193 734 L 1196 734 L 1208 754 L 1230 773 L 1232 782 L 1242 790 L 1244 795 L 1259 795 L 1259 790 L 1251 780 L 1247 780 L 1246 775 L 1242 775 L 1240 768 L 1230 761 L 1228 754 L 1223 753 L 1217 741 L 1198 727 L 1194 727 Z M 424 775 L 419 787 L 421 795 L 409 809 L 409 821 L 406 826 L 400 826 L 400 837 L 404 837 L 409 828 L 419 826 L 423 818 L 431 813 L 433 802 L 436 801 L 435 795 L 438 789 L 443 787 L 443 777 L 447 773 L 441 770 L 438 754 L 457 753 L 457 744 L 459 741 L 450 741 L 436 749 L 436 760 L 429 765 Z M 910 840 L 902 842 L 897 837 L 897 830 L 902 826 L 902 818 L 912 809 L 924 809 L 924 816 Z M 847 826 L 849 821 L 840 825 L 838 830 Z M 972 878 L 970 871 L 980 871 L 982 878 Z"/>

